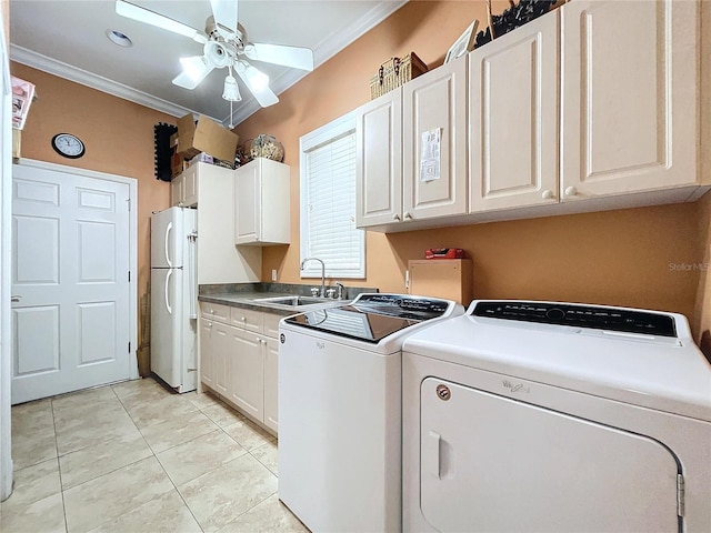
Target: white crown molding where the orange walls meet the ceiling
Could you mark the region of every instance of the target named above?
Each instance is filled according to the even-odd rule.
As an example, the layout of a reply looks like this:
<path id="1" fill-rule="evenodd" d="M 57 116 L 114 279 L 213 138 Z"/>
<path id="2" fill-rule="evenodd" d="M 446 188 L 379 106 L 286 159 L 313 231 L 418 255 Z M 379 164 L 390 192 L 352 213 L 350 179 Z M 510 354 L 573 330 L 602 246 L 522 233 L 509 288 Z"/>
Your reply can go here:
<path id="1" fill-rule="evenodd" d="M 360 38 L 372 28 L 378 26 L 407 2 L 408 0 L 380 2 L 363 17 L 354 21 L 354 23 L 349 27 L 348 31 L 334 32 L 328 36 L 313 50 L 314 69 L 331 59 L 356 39 Z M 170 114 L 171 117 L 183 117 L 188 113 L 200 114 L 193 109 L 177 105 L 161 98 L 153 97 L 142 91 L 138 91 L 122 83 L 109 80 L 108 78 L 104 78 L 102 76 L 94 74 L 77 67 L 72 67 L 71 64 L 48 58 L 47 56 L 42 56 L 40 53 L 33 52 L 22 47 L 18 47 L 12 43 L 10 44 L 10 59 L 33 69 L 54 74 L 59 78 L 80 83 L 101 92 L 106 92 L 107 94 L 111 94 L 123 100 L 138 103 L 139 105 L 161 111 L 163 113 Z M 281 94 L 308 74 L 309 72 L 303 72 L 297 69 L 287 70 L 283 74 L 271 81 L 272 90 L 276 94 Z M 250 99 L 249 101 L 241 103 L 234 111 L 234 113 L 232 114 L 231 123 L 237 125 L 240 122 L 247 120 L 260 109 L 261 108 L 259 107 L 259 103 L 257 103 L 254 99 Z M 222 119 L 217 117 L 210 118 L 218 122 L 221 122 L 223 125 L 228 125 L 230 123 L 229 115 Z"/>

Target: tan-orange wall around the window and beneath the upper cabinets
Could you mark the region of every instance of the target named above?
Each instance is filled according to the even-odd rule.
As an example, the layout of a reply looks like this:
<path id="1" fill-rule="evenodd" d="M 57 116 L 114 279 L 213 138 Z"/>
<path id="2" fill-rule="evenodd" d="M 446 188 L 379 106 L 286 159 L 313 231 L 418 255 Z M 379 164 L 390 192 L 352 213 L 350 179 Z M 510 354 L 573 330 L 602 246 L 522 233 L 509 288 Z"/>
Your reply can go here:
<path id="1" fill-rule="evenodd" d="M 500 11 L 497 7 L 494 12 Z M 430 68 L 441 64 L 447 49 L 474 18 L 485 21 L 483 2 L 410 2 L 281 94 L 279 104 L 237 128 L 242 139 L 277 135 L 292 168 L 292 244 L 264 249 L 262 279 L 269 280 L 271 269 L 278 269 L 280 281 L 301 281 L 299 138 L 365 103 L 369 79 L 384 59 L 414 51 Z M 427 248 L 458 247 L 473 257 L 477 298 L 631 305 L 694 319 L 700 273 L 670 264 L 700 261 L 698 210 L 697 204 L 679 204 L 390 235 L 369 232 L 368 278 L 348 283 L 404 292 L 409 259 L 422 258 Z"/>

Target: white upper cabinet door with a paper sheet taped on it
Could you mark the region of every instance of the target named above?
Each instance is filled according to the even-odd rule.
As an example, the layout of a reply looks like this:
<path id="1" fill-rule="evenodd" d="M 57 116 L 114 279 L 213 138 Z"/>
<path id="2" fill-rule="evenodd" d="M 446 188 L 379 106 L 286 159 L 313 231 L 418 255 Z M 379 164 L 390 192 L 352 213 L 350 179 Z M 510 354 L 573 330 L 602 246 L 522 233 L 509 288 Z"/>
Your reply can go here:
<path id="1" fill-rule="evenodd" d="M 403 86 L 402 161 L 404 221 L 467 212 L 467 58 Z"/>

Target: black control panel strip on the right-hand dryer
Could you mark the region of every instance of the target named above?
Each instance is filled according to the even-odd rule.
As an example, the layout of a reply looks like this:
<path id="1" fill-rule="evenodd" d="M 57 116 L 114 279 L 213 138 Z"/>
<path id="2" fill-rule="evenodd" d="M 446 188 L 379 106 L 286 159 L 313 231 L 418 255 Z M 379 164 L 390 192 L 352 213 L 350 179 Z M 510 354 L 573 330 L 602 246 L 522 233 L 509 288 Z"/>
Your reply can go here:
<path id="1" fill-rule="evenodd" d="M 473 316 L 571 325 L 625 333 L 677 336 L 673 316 L 604 305 L 555 302 L 480 301 L 470 310 Z"/>

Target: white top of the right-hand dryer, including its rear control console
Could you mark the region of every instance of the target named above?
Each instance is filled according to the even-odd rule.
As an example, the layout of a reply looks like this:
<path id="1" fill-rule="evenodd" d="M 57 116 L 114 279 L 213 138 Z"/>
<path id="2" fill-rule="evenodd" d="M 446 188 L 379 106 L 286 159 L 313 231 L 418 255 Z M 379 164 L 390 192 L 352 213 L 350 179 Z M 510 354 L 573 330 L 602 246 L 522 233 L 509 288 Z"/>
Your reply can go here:
<path id="1" fill-rule="evenodd" d="M 527 305 L 548 311 L 560 309 L 563 314 L 555 311 L 553 320 L 533 321 L 528 316 L 504 318 L 487 312 L 502 304 L 519 309 Z M 561 305 L 570 308 L 561 309 Z M 654 334 L 620 331 L 601 325 L 599 321 L 585 324 L 571 320 L 568 325 L 562 320 L 568 311 L 620 316 L 630 313 L 627 316 L 634 319 L 633 329 L 651 320 L 659 331 Z M 545 314 L 539 312 L 539 316 L 541 313 Z M 669 320 L 673 322 L 673 336 L 668 334 Z M 559 302 L 474 301 L 467 314 L 409 335 L 402 349 L 428 358 L 711 421 L 711 364 L 694 344 L 687 319 L 678 313 Z"/>

